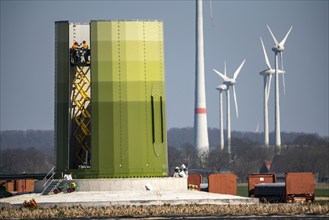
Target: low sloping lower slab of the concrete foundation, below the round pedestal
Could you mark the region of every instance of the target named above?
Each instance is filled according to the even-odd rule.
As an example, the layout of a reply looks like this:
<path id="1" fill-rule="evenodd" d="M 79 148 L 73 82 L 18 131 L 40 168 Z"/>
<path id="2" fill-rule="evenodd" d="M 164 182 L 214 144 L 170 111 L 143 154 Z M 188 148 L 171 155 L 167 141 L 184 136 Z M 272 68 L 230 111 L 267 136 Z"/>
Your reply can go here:
<path id="1" fill-rule="evenodd" d="M 200 191 L 144 191 L 144 192 L 72 192 L 42 196 L 24 194 L 0 199 L 0 207 L 22 207 L 25 200 L 35 199 L 40 207 L 106 207 L 115 205 L 180 205 L 180 204 L 217 204 L 238 205 L 256 204 L 258 199 Z"/>

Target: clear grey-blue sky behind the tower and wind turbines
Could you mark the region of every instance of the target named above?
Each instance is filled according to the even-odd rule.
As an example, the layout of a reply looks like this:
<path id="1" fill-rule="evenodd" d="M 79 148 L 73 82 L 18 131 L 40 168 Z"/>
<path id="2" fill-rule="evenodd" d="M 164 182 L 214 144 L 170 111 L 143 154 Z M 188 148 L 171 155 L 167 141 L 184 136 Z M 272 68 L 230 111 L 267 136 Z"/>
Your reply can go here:
<path id="1" fill-rule="evenodd" d="M 232 130 L 263 130 L 259 72 L 266 68 L 259 37 L 274 66 L 273 40 L 286 41 L 286 95 L 281 86 L 281 131 L 328 134 L 328 1 L 204 1 L 208 126 L 219 127 L 218 92 L 243 59 L 237 79 L 239 119 Z M 6 1 L 1 0 L 0 130 L 54 128 L 54 22 L 159 19 L 164 22 L 167 127 L 193 126 L 195 1 Z M 274 83 L 274 80 L 272 81 Z M 269 100 L 274 129 L 274 84 Z M 231 102 L 233 104 L 233 100 Z M 224 104 L 226 105 L 226 104 Z M 232 116 L 234 106 L 231 106 Z"/>

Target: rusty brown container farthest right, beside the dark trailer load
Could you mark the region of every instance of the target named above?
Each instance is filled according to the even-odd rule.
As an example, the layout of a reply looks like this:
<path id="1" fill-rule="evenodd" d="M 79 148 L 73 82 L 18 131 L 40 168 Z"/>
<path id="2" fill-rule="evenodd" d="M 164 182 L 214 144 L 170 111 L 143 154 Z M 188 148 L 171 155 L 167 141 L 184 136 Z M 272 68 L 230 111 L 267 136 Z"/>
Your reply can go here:
<path id="1" fill-rule="evenodd" d="M 313 202 L 314 173 L 286 173 L 286 202 Z"/>

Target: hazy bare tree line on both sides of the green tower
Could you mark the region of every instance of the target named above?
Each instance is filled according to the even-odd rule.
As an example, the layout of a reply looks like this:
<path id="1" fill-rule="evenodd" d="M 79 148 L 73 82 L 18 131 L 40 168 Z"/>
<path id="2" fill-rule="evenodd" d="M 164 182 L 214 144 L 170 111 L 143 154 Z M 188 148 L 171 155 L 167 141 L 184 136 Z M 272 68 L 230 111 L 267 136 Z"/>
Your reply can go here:
<path id="1" fill-rule="evenodd" d="M 209 129 L 210 152 L 198 157 L 192 145 L 193 128 L 168 130 L 168 168 L 185 164 L 190 172 L 237 174 L 245 182 L 249 173 L 258 173 L 264 160 L 272 161 L 271 172 L 314 172 L 329 180 L 329 138 L 308 133 L 282 133 L 282 150 L 265 148 L 262 134 L 232 133 L 232 153 L 219 149 L 219 130 Z M 274 139 L 274 138 L 273 138 Z M 0 131 L 0 174 L 45 173 L 55 165 L 53 131 Z"/>

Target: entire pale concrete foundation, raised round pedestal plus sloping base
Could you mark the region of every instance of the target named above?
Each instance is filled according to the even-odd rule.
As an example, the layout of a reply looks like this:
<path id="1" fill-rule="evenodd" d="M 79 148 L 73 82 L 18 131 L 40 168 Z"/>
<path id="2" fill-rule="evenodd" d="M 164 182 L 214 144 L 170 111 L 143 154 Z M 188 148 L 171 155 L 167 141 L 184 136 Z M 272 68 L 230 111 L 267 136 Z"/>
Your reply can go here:
<path id="1" fill-rule="evenodd" d="M 34 198 L 40 207 L 113 205 L 255 204 L 256 198 L 187 190 L 187 178 L 76 179 L 72 193 L 24 194 L 0 199 L 1 206 L 21 207 Z M 43 181 L 35 185 L 42 191 Z M 65 183 L 64 183 L 65 184 Z"/>

